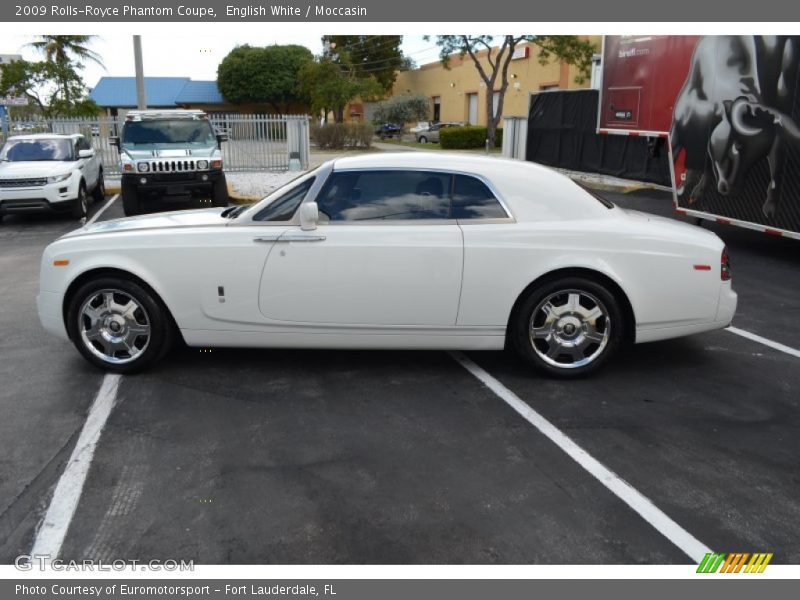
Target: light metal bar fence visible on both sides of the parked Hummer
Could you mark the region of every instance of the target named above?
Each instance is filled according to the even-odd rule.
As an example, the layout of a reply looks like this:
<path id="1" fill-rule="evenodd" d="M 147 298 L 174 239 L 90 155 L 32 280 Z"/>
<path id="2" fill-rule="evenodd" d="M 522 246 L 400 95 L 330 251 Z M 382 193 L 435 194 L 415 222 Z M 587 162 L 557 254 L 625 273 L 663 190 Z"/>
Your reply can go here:
<path id="1" fill-rule="evenodd" d="M 218 133 L 228 136 L 222 144 L 226 171 L 286 171 L 308 168 L 309 121 L 306 116 L 211 114 Z M 107 175 L 119 174 L 119 153 L 110 144 L 122 130 L 121 117 L 96 119 L 9 119 L 9 135 L 31 133 L 80 133 L 97 152 Z M 0 143 L 3 141 L 0 133 Z"/>

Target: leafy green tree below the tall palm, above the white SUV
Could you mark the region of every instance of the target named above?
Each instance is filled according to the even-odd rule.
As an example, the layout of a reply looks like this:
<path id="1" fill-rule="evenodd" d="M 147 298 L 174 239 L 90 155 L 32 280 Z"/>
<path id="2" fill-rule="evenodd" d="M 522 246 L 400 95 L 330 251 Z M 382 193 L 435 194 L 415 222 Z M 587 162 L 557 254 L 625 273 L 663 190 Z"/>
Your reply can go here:
<path id="1" fill-rule="evenodd" d="M 3 65 L 0 96 L 25 96 L 46 118 L 93 117 L 99 107 L 71 62 L 15 60 Z"/>

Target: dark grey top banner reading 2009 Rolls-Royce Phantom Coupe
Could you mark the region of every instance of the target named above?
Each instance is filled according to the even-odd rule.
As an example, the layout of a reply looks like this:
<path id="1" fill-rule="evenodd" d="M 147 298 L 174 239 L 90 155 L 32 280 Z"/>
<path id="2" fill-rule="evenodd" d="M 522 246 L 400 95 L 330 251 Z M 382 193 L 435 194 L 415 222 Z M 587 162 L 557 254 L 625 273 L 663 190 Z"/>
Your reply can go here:
<path id="1" fill-rule="evenodd" d="M 786 0 L 27 0 L 0 4 L 4 22 L 781 22 L 800 21 L 800 2 Z M 788 33 L 788 32 L 787 32 Z"/>

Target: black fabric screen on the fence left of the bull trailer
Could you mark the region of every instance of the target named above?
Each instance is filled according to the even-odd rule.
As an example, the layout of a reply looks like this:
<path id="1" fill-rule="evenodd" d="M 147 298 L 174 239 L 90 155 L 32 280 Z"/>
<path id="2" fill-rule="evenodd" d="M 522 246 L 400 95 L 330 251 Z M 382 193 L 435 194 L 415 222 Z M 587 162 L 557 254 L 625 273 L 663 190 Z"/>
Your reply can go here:
<path id="1" fill-rule="evenodd" d="M 598 135 L 597 90 L 544 92 L 531 100 L 526 160 L 669 186 L 664 138 Z"/>

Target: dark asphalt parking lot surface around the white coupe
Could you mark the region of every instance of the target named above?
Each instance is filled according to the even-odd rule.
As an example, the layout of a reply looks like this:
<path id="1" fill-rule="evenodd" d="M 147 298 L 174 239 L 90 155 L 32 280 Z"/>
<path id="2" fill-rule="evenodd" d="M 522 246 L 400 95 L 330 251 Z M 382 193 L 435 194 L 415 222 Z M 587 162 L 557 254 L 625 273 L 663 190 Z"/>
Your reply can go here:
<path id="1" fill-rule="evenodd" d="M 661 192 L 608 196 L 671 214 Z M 41 251 L 75 226 L 0 225 L 3 563 L 30 552 L 104 379 L 36 315 Z M 800 242 L 710 227 L 734 325 L 798 348 Z M 123 377 L 61 557 L 692 562 L 456 358 L 182 349 Z M 702 544 L 800 562 L 800 358 L 729 331 L 636 346 L 571 382 L 468 358 Z"/>

